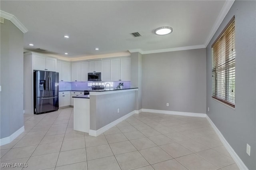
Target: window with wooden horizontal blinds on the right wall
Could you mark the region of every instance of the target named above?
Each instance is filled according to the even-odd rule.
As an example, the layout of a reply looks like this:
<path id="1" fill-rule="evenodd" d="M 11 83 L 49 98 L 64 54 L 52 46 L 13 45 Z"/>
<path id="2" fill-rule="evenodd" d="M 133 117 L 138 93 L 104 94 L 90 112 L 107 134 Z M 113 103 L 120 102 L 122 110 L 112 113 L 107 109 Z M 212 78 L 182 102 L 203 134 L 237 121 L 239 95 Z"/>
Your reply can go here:
<path id="1" fill-rule="evenodd" d="M 212 44 L 212 98 L 235 107 L 235 16 Z"/>

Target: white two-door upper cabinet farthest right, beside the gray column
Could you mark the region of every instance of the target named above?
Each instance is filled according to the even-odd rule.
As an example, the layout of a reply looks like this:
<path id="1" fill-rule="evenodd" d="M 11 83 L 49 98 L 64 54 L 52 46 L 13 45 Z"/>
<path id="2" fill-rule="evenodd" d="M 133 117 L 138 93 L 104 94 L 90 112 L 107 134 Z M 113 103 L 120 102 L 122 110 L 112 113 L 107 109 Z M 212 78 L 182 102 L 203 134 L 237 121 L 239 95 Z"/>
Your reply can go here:
<path id="1" fill-rule="evenodd" d="M 131 58 L 116 58 L 110 61 L 110 80 L 111 81 L 130 81 L 131 80 Z"/>

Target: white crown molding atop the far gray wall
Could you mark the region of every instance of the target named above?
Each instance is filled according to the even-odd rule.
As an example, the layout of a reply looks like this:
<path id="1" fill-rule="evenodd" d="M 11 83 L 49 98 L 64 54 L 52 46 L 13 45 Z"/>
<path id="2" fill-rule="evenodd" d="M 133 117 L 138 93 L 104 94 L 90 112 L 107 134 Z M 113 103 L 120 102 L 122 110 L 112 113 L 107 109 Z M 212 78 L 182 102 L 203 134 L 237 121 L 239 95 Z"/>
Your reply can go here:
<path id="1" fill-rule="evenodd" d="M 188 49 L 200 49 L 205 47 L 206 47 L 205 45 L 192 45 L 192 46 L 186 46 L 186 47 L 155 49 L 155 50 L 149 50 L 149 51 L 142 51 L 142 49 L 129 49 L 129 51 L 130 53 L 139 52 L 141 54 L 152 54 L 152 53 L 164 53 L 164 52 L 170 52 L 170 51 L 182 51 L 182 50 L 188 50 Z"/>

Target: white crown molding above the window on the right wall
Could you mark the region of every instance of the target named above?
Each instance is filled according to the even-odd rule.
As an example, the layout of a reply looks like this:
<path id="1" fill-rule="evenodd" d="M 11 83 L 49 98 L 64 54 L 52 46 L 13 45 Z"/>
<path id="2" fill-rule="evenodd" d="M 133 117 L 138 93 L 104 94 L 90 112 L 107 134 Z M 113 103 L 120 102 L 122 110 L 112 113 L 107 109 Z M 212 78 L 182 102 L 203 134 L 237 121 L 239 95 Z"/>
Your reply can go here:
<path id="1" fill-rule="evenodd" d="M 222 23 L 222 21 L 224 20 L 225 16 L 228 14 L 228 11 L 230 10 L 231 6 L 233 5 L 233 3 L 235 2 L 235 0 L 226 0 L 224 6 L 222 7 L 220 14 L 216 20 L 216 22 L 214 23 L 212 30 L 209 34 L 209 36 L 206 39 L 206 42 L 204 43 L 204 46 L 207 47 L 207 45 L 210 43 L 210 41 L 212 40 L 212 37 L 214 36 L 214 34 L 216 33 L 216 31 L 218 30 L 218 28 L 220 27 L 220 24 Z"/>

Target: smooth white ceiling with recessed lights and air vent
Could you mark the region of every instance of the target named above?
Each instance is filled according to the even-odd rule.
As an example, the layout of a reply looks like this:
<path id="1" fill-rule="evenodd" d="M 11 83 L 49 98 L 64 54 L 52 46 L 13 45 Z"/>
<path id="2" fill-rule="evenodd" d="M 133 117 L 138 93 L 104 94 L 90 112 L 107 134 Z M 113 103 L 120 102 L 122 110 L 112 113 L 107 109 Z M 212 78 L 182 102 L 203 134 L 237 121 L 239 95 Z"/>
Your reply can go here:
<path id="1" fill-rule="evenodd" d="M 16 16 L 27 28 L 24 49 L 42 48 L 47 49 L 44 53 L 74 59 L 128 50 L 143 53 L 205 47 L 224 18 L 227 2 L 1 0 L 0 9 Z M 170 26 L 173 32 L 155 35 L 154 30 L 161 26 Z M 133 32 L 142 36 L 133 37 Z"/>

